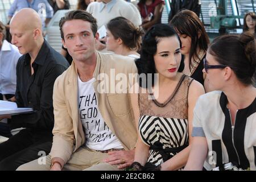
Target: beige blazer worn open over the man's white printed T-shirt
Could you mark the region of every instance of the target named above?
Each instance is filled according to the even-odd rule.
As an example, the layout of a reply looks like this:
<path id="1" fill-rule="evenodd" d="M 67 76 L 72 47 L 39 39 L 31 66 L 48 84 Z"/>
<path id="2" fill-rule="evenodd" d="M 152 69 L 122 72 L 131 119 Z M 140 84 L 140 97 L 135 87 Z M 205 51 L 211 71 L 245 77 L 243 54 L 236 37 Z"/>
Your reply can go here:
<path id="1" fill-rule="evenodd" d="M 99 73 L 106 73 L 107 76 L 104 77 L 110 78 L 110 69 L 115 69 L 115 75 L 118 73 L 129 75 L 129 73 L 137 73 L 137 67 L 131 57 L 97 52 L 96 69 L 93 73 L 93 77 L 96 78 L 93 86 L 101 115 L 123 148 L 131 150 L 137 142 L 137 131 L 129 94 L 97 92 L 98 86 L 102 84 L 98 81 Z M 117 84 L 118 81 L 114 80 L 114 82 Z M 110 86 L 110 82 L 106 85 Z M 53 87 L 55 125 L 52 131 L 53 143 L 50 155 L 51 158 L 63 159 L 65 163 L 72 153 L 85 143 L 77 93 L 77 68 L 73 62 L 67 71 L 57 77 Z"/>

